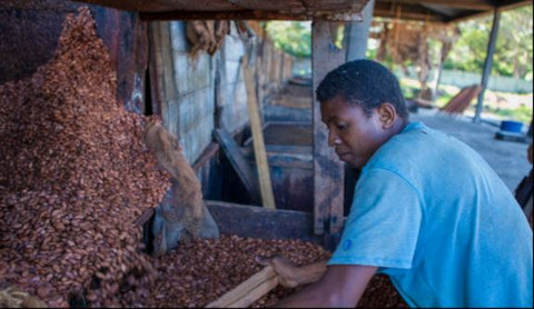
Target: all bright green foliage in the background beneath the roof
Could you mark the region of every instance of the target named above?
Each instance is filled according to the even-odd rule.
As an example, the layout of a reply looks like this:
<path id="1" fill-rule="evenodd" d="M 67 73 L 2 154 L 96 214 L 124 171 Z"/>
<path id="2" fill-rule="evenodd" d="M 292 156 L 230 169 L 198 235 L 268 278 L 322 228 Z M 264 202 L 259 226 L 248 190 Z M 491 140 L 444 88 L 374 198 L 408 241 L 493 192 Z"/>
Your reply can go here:
<path id="1" fill-rule="evenodd" d="M 532 79 L 533 77 L 533 7 L 525 6 L 504 11 L 493 57 L 492 74 Z M 462 36 L 444 62 L 445 69 L 482 73 L 487 52 L 493 16 L 468 20 L 458 24 Z M 312 23 L 309 21 L 268 21 L 266 29 L 277 48 L 295 57 L 312 56 Z M 343 28 L 336 44 L 340 47 Z M 369 46 L 367 57 L 376 59 L 377 46 Z M 439 54 L 441 43 L 429 41 L 431 56 Z M 384 59 L 386 66 L 392 59 Z M 437 59 L 432 59 L 437 63 Z M 407 63 L 409 66 L 409 63 Z M 390 66 L 389 66 L 390 67 Z"/>

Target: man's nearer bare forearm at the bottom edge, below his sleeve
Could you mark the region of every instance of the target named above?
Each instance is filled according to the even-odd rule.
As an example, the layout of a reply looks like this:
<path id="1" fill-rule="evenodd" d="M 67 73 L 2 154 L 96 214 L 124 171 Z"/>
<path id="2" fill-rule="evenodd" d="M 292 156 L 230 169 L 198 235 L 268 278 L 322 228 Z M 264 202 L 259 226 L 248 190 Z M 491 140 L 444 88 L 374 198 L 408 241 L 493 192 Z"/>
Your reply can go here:
<path id="1" fill-rule="evenodd" d="M 315 270 L 317 269 L 315 268 Z M 370 278 L 375 275 L 376 269 L 376 267 L 358 265 L 329 266 L 319 281 L 283 299 L 275 307 L 354 308 L 358 303 Z"/>

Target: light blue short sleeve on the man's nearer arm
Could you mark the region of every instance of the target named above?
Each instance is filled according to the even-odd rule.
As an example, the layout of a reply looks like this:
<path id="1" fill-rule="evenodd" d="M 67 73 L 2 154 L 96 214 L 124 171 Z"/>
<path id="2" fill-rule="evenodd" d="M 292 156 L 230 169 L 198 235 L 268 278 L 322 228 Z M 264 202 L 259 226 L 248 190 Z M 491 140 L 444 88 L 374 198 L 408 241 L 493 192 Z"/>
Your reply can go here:
<path id="1" fill-rule="evenodd" d="M 328 265 L 409 269 L 422 216 L 419 195 L 403 177 L 380 168 L 364 171 Z"/>

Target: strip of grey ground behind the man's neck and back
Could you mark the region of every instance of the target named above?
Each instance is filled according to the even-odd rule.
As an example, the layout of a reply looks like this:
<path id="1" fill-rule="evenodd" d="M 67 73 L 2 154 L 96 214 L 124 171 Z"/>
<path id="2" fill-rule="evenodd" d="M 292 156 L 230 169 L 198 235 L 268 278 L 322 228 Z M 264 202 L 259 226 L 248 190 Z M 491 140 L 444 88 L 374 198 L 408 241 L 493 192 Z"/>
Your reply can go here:
<path id="1" fill-rule="evenodd" d="M 422 121 L 471 146 L 481 153 L 512 191 L 532 169 L 532 165 L 526 159 L 528 143 L 495 139 L 498 127 L 485 122 L 474 123 L 467 117 L 442 116 L 437 114 L 436 110 L 425 109 L 411 113 L 409 119 Z"/>

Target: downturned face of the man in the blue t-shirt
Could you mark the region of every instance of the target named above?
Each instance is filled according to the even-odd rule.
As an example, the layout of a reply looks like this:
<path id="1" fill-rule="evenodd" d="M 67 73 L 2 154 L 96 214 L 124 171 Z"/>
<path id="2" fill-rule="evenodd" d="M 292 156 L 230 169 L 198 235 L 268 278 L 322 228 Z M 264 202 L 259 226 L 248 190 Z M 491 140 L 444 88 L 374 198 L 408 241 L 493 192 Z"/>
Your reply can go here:
<path id="1" fill-rule="evenodd" d="M 340 96 L 322 102 L 320 114 L 328 128 L 328 146 L 335 148 L 339 160 L 355 168 L 365 166 L 388 138 L 377 109 L 368 117 Z"/>

